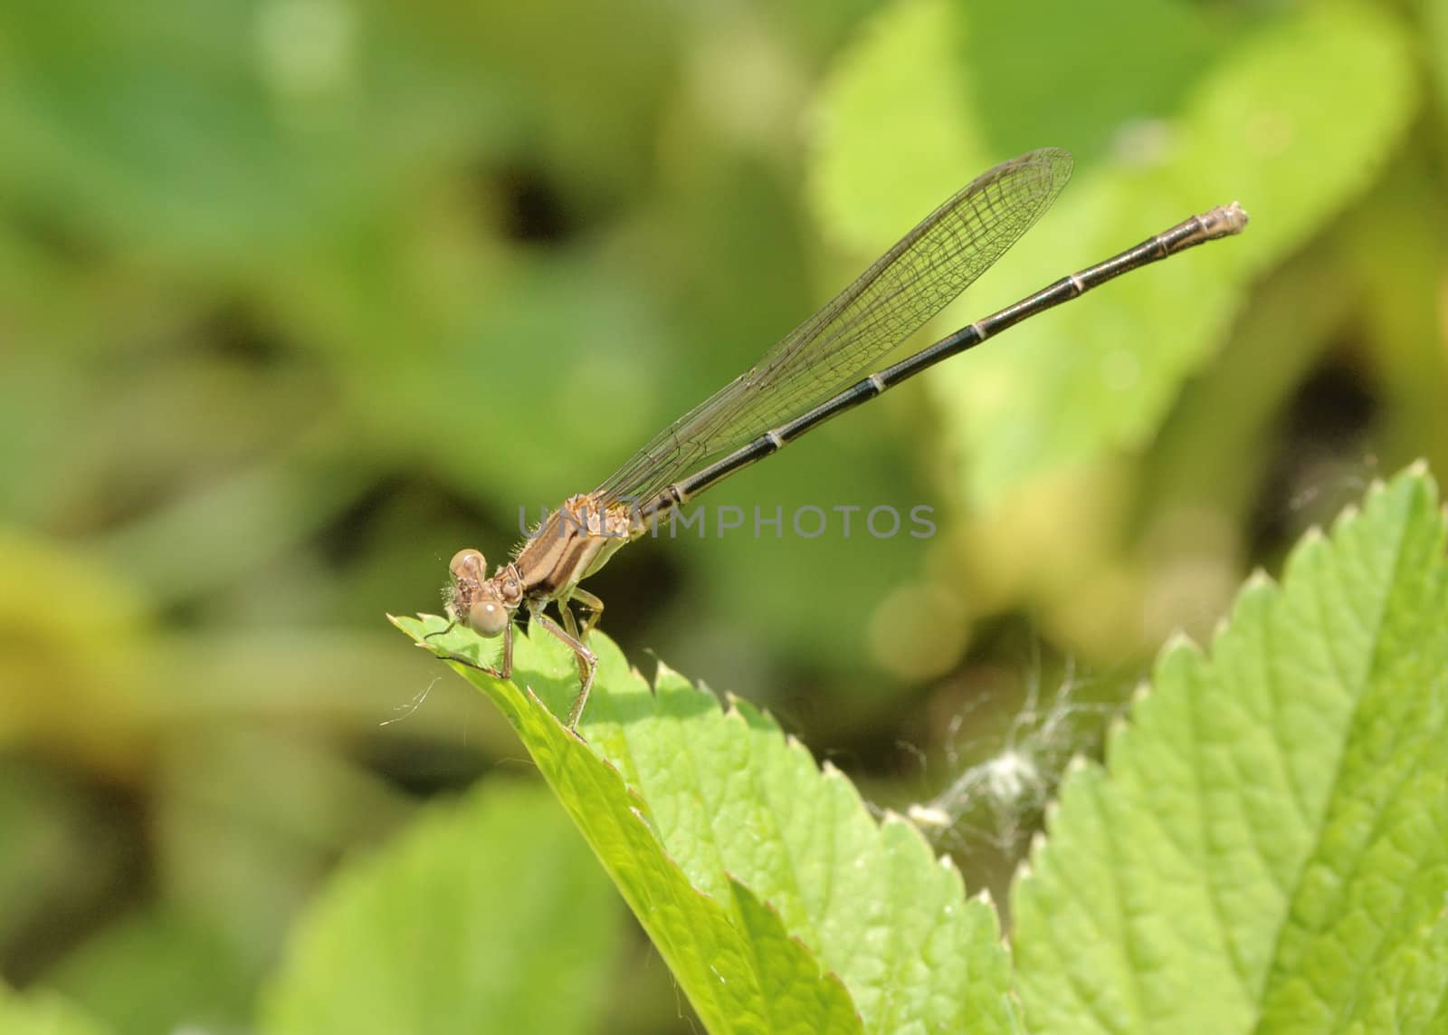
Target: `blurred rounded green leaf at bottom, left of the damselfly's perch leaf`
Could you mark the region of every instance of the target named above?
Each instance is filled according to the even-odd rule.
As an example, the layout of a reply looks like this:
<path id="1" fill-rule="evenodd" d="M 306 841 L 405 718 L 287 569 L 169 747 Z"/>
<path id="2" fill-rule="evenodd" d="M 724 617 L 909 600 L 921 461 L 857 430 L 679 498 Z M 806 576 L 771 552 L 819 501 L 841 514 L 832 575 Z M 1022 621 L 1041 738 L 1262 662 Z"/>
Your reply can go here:
<path id="1" fill-rule="evenodd" d="M 547 793 L 488 781 L 340 874 L 298 926 L 264 1031 L 585 1031 L 618 919 Z"/>

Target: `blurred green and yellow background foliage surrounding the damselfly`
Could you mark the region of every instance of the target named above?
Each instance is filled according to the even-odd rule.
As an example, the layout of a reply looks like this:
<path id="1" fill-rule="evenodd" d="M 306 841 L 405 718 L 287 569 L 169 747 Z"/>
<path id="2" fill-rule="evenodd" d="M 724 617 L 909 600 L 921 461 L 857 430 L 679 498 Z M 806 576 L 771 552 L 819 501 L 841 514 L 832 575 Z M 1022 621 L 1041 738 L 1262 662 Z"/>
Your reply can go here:
<path id="1" fill-rule="evenodd" d="M 1077 183 L 961 319 L 1211 204 L 1253 226 L 710 497 L 935 538 L 663 538 L 591 589 L 634 664 L 882 802 L 1028 686 L 1109 707 L 1380 470 L 1448 470 L 1445 117 L 1436 1 L 4 4 L 0 977 L 248 1025 L 345 854 L 518 767 L 382 613 L 1044 144 Z M 611 958 L 599 1031 L 686 1028 Z"/>

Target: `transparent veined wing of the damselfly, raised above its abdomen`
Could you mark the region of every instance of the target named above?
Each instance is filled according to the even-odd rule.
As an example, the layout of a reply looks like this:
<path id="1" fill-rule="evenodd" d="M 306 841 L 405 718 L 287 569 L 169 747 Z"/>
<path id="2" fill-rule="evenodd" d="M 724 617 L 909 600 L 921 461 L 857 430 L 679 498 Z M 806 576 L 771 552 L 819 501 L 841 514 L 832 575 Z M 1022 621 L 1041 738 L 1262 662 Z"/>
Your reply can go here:
<path id="1" fill-rule="evenodd" d="M 1070 174 L 1066 151 L 1041 148 L 976 177 L 595 491 L 604 502 L 652 500 L 870 374 L 882 357 L 989 270 L 1051 206 Z"/>

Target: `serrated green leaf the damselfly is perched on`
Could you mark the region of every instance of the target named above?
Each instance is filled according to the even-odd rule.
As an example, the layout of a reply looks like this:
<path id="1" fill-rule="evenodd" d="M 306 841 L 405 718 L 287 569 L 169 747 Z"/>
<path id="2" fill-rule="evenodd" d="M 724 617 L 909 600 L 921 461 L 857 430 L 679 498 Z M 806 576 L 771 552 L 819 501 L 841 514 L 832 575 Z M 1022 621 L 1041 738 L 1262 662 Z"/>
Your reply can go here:
<path id="1" fill-rule="evenodd" d="M 395 620 L 414 638 L 445 628 Z M 455 631 L 430 642 L 471 652 L 481 641 Z M 586 744 L 555 718 L 576 670 L 552 638 L 518 642 L 514 683 L 527 694 L 462 671 L 513 720 L 711 1031 L 778 1031 L 785 1016 L 840 1031 L 854 1009 L 864 1031 L 1011 1029 L 995 912 L 966 900 L 912 826 L 876 823 L 767 715 L 721 710 L 666 668 L 650 690 L 605 638 L 589 642 L 601 667 Z M 741 903 L 741 889 L 767 909 Z M 778 974 L 796 971 L 815 977 L 791 978 L 779 1002 Z"/>

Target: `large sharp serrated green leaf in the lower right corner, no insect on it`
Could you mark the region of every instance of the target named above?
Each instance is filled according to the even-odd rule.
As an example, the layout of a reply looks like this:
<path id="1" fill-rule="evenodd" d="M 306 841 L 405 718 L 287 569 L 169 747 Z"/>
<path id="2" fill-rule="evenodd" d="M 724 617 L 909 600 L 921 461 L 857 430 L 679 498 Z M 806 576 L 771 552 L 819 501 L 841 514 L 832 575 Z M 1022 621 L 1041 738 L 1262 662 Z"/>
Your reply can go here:
<path id="1" fill-rule="evenodd" d="M 1445 1029 L 1445 539 L 1412 470 L 1164 652 L 1014 890 L 1032 1031 Z"/>

